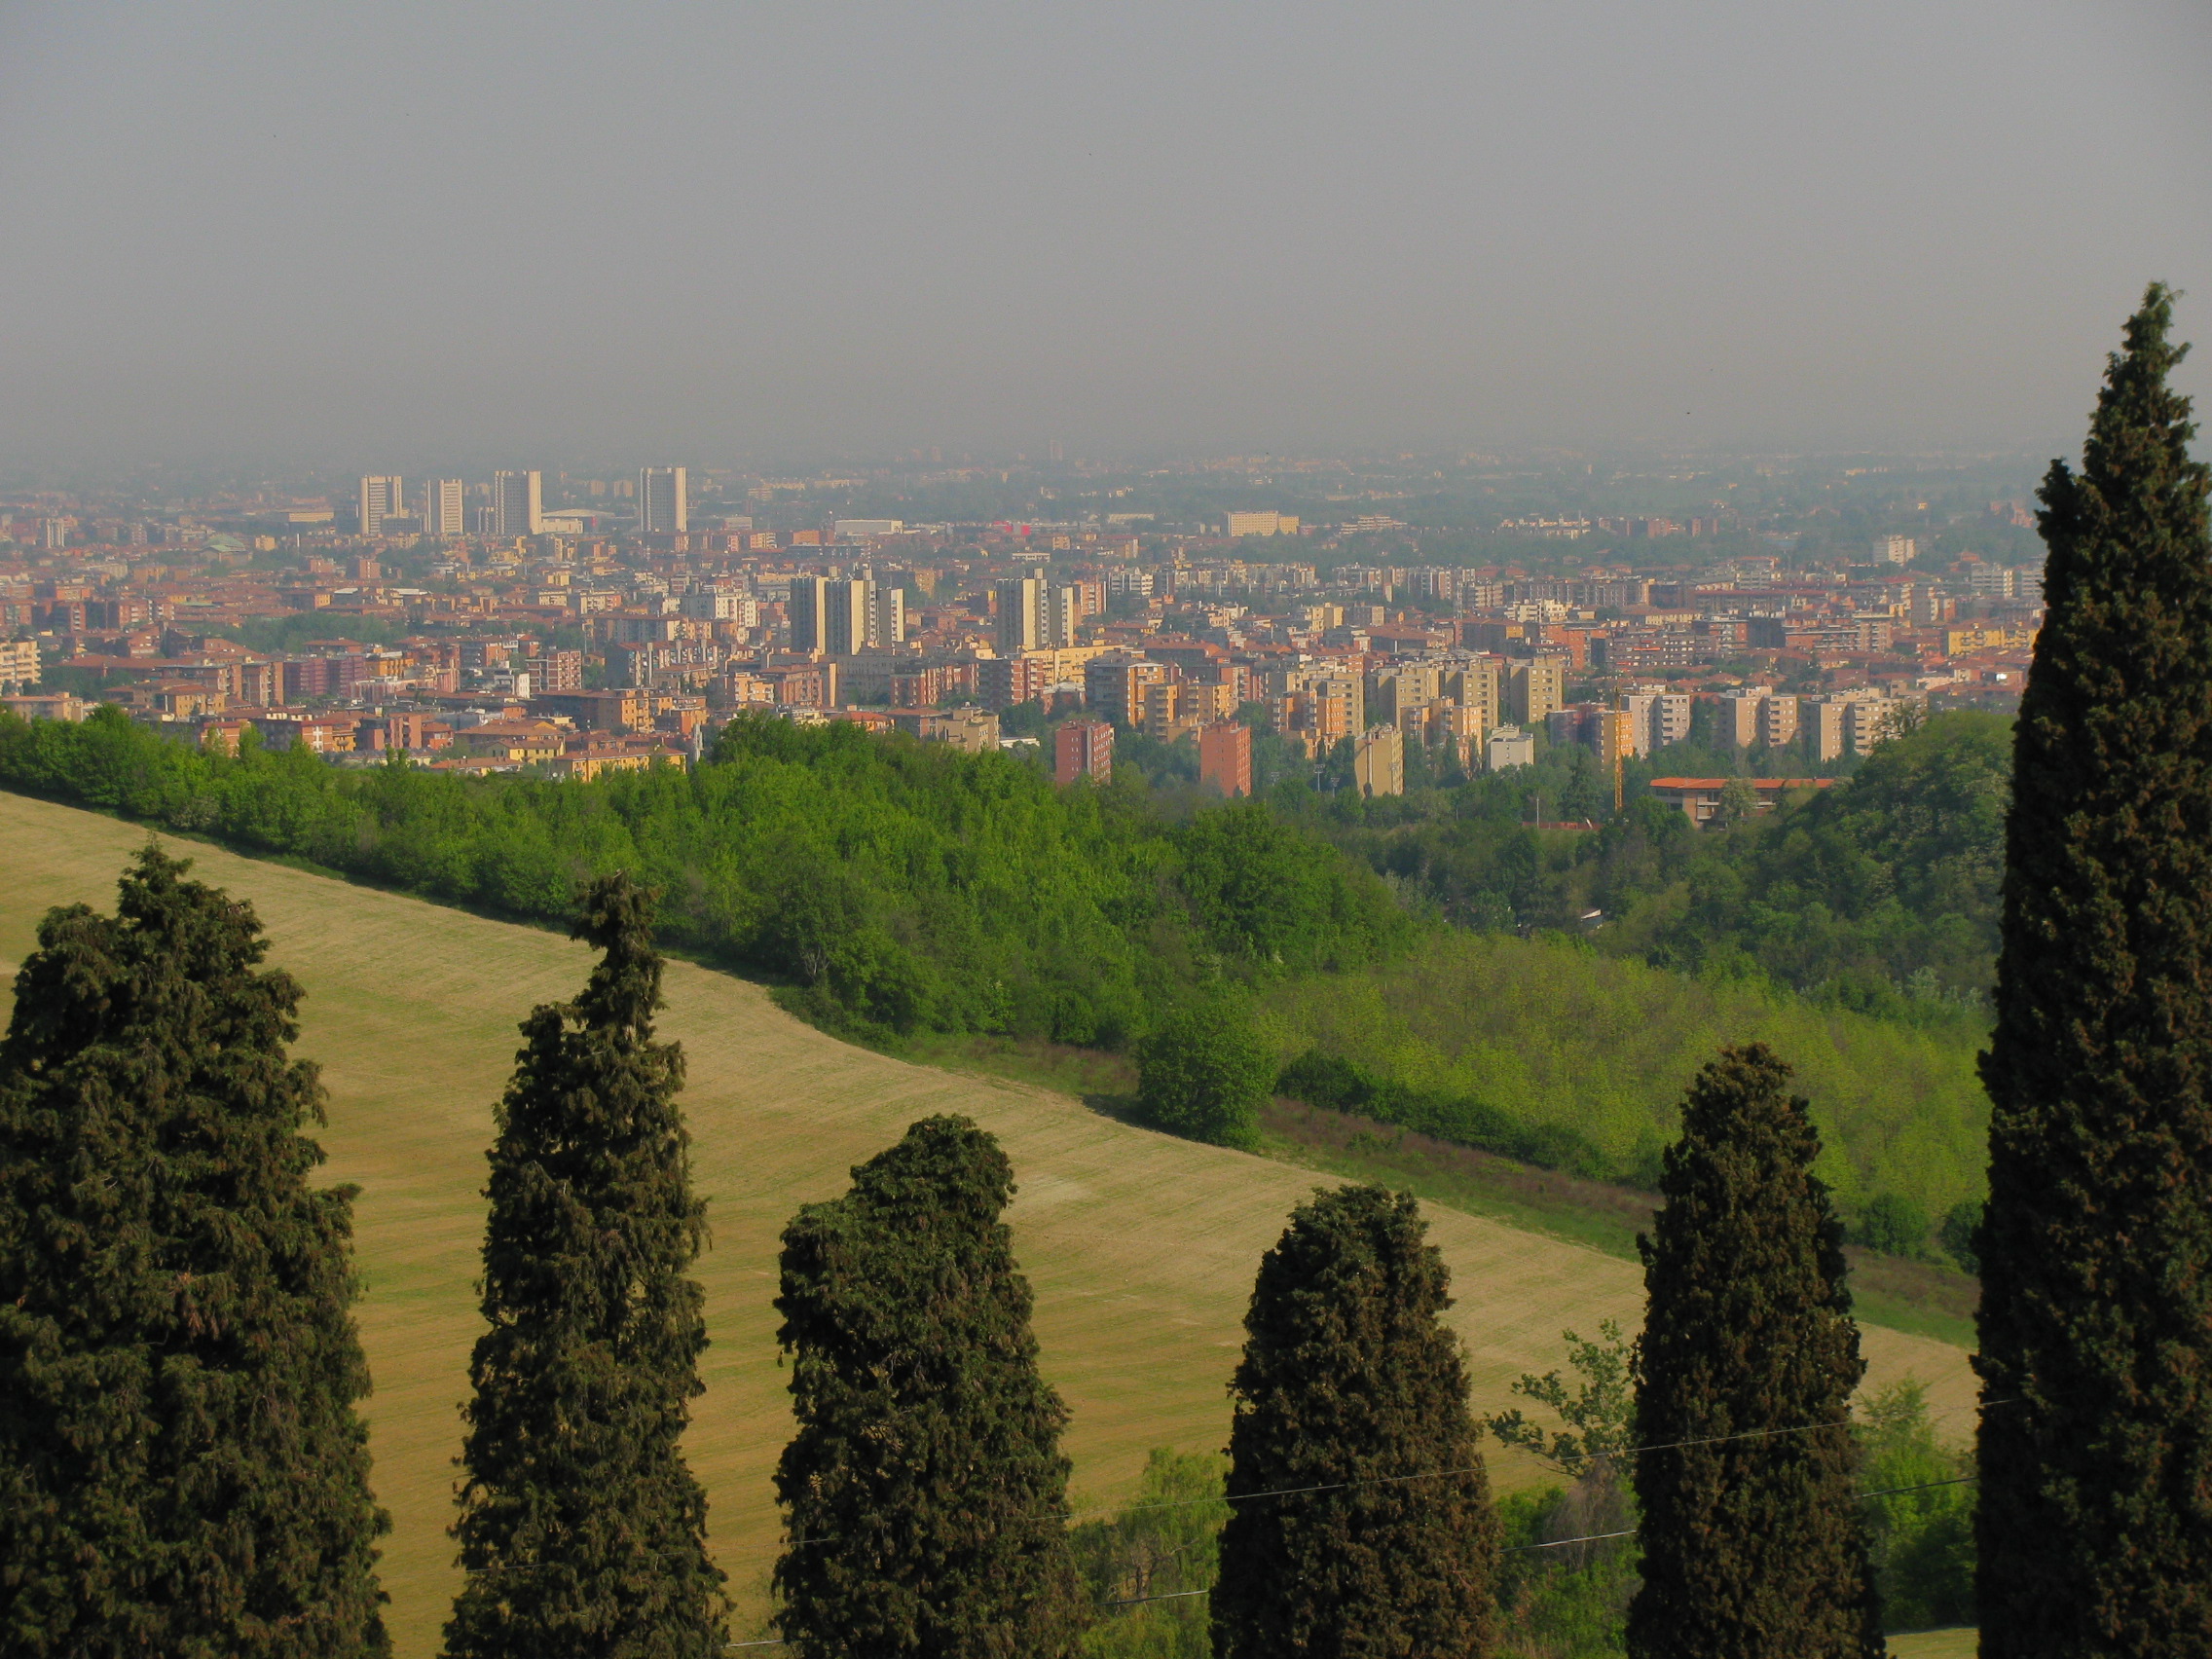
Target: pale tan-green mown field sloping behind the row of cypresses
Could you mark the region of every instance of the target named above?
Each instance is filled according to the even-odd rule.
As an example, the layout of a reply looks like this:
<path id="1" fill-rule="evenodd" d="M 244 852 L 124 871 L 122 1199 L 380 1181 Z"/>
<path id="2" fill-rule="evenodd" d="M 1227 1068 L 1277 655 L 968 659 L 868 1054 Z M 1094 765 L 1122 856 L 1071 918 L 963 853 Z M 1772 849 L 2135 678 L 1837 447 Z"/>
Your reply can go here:
<path id="1" fill-rule="evenodd" d="M 111 818 L 0 796 L 0 958 L 22 958 L 49 905 L 113 907 L 115 876 L 142 841 Z M 513 1064 L 515 1022 L 533 1002 L 571 995 L 588 953 L 549 931 L 215 847 L 177 849 L 257 905 L 272 960 L 307 989 L 301 1053 L 330 1086 L 327 1175 L 361 1186 L 369 1422 L 378 1498 L 394 1517 L 385 1588 L 396 1652 L 418 1659 L 436 1652 L 456 1577 L 445 1526 L 478 1329 L 491 1102 Z M 1037 1294 L 1046 1374 L 1073 1409 L 1077 1493 L 1126 1495 L 1148 1447 L 1223 1444 L 1223 1383 L 1252 1270 L 1312 1172 L 1152 1135 L 1042 1088 L 854 1048 L 787 1018 L 759 987 L 690 964 L 672 964 L 668 1000 L 664 1031 L 690 1057 L 684 1099 L 714 1234 L 699 1263 L 708 1389 L 688 1449 L 748 1617 L 776 1548 L 768 1473 L 787 1431 L 770 1307 L 776 1234 L 916 1117 L 969 1113 L 1013 1157 L 1015 1248 Z M 1555 1367 L 1562 1327 L 1635 1321 L 1630 1263 L 1453 1210 L 1431 1217 L 1480 1409 L 1509 1402 L 1517 1374 Z M 1867 1352 L 1876 1383 L 1913 1371 L 1947 1422 L 1964 1425 L 1960 1349 L 1869 1327 Z M 1498 1478 L 1513 1484 L 1533 1469 L 1500 1462 Z"/>

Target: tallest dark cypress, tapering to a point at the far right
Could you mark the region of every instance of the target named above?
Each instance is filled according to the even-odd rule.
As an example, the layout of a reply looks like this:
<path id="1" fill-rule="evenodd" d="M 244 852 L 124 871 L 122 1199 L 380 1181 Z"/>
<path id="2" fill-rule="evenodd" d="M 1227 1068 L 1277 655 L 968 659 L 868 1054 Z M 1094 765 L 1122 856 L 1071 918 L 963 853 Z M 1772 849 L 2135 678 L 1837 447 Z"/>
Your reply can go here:
<path id="1" fill-rule="evenodd" d="M 2212 1652 L 2212 533 L 2128 321 L 2042 489 L 1982 1259 L 1982 1652 Z"/>

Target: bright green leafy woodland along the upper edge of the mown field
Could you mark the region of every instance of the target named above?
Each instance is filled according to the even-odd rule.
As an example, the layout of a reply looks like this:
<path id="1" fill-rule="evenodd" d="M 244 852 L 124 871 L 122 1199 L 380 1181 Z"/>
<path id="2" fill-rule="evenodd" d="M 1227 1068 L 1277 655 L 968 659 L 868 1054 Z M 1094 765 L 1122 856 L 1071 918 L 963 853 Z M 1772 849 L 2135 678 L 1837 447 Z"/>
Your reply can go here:
<path id="1" fill-rule="evenodd" d="M 1416 933 L 1265 807 L 1168 823 L 1141 790 L 854 726 L 741 717 L 690 772 L 553 783 L 0 717 L 0 783 L 507 916 L 562 920 L 577 880 L 628 869 L 666 894 L 666 938 L 854 1031 L 1121 1046 L 1188 987 L 1356 969 Z"/>

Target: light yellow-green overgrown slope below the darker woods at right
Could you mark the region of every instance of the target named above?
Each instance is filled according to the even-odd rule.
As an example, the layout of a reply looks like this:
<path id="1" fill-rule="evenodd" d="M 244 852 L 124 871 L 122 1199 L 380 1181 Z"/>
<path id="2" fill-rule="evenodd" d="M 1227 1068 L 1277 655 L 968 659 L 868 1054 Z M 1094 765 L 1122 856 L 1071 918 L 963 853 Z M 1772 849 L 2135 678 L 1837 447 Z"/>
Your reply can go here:
<path id="1" fill-rule="evenodd" d="M 1360 975 L 1276 984 L 1276 1051 L 1338 1055 L 1436 1097 L 1573 1130 L 1606 1175 L 1646 1181 L 1690 1075 L 1761 1040 L 1798 1073 L 1820 1126 L 1820 1177 L 1845 1212 L 1876 1192 L 1940 1217 L 1982 1190 L 1989 1099 L 1978 1037 L 1708 984 L 1566 942 L 1449 933 Z"/>

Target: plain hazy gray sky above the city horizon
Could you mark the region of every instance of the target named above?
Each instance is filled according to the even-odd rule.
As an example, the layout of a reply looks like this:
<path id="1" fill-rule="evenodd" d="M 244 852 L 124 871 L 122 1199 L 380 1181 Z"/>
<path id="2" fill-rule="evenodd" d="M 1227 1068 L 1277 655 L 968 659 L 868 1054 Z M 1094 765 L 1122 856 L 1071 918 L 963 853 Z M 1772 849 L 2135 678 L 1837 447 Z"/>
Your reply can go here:
<path id="1" fill-rule="evenodd" d="M 2073 445 L 2208 0 L 0 0 L 0 460 Z"/>

